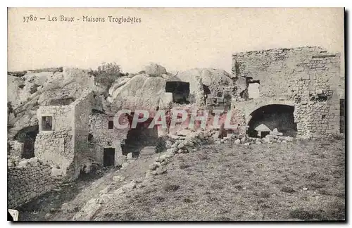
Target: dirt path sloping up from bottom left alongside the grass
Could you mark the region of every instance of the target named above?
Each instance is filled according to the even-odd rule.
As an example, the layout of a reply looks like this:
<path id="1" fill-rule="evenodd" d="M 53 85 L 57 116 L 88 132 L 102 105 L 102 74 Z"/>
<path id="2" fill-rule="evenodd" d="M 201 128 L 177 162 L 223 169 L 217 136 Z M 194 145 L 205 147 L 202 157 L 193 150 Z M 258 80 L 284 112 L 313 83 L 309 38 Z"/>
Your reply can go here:
<path id="1" fill-rule="evenodd" d="M 145 176 L 145 172 L 158 156 L 152 147 L 142 150 L 141 156 L 137 160 L 130 161 L 127 167 L 120 170 L 108 170 L 99 179 L 78 179 L 76 182 L 61 186 L 61 188 L 45 194 L 34 201 L 27 203 L 20 211 L 20 220 L 23 221 L 69 221 L 75 213 L 87 203 L 89 199 L 99 195 L 99 192 L 113 182 L 113 177 L 119 175 L 125 177 L 122 182 L 114 182 L 111 189 L 117 189 L 132 179 Z"/>

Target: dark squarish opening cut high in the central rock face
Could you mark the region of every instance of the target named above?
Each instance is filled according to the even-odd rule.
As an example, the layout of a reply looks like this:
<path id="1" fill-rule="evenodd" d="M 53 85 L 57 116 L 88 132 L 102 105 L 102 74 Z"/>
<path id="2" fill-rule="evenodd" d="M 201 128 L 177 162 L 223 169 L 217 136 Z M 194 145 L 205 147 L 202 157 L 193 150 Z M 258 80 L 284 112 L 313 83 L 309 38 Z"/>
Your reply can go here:
<path id="1" fill-rule="evenodd" d="M 172 102 L 189 103 L 189 82 L 166 82 L 165 91 L 172 93 Z"/>

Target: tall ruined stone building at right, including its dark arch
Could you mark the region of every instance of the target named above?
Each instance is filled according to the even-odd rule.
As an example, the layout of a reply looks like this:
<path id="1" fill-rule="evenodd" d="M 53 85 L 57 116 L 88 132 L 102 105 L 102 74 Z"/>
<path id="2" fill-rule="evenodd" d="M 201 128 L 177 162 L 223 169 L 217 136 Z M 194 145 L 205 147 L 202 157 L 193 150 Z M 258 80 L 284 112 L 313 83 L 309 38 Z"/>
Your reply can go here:
<path id="1" fill-rule="evenodd" d="M 262 124 L 305 139 L 344 132 L 340 63 L 340 53 L 318 46 L 234 53 L 232 73 L 245 86 L 237 87 L 232 108 L 249 134 Z"/>

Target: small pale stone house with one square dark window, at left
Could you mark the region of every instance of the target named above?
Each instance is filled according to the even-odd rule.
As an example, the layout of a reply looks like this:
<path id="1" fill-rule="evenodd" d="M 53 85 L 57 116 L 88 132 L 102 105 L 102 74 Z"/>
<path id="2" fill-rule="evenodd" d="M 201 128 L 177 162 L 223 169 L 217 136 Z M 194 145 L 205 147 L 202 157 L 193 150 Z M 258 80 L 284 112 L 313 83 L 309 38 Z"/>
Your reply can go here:
<path id="1" fill-rule="evenodd" d="M 77 178 L 80 166 L 89 158 L 89 111 L 92 91 L 65 105 L 40 106 L 37 110 L 39 133 L 34 154 L 62 175 Z M 60 102 L 59 102 L 60 103 Z"/>

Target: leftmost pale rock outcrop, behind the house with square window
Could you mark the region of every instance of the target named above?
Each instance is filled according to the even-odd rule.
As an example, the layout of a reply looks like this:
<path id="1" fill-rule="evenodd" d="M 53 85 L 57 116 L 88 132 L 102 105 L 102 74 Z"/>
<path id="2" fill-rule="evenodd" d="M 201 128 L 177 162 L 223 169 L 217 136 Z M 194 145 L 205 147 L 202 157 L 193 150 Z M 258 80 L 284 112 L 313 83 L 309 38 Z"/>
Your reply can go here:
<path id="1" fill-rule="evenodd" d="M 54 101 L 73 101 L 85 89 L 96 91 L 98 88 L 87 70 L 77 68 L 63 68 L 63 72 L 28 72 L 23 77 L 8 75 L 8 101 L 16 113 L 16 117 L 12 114 L 8 117 L 11 126 L 8 137 L 11 139 L 20 129 L 37 125 L 39 106 L 60 105 L 63 101 Z"/>

